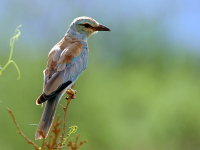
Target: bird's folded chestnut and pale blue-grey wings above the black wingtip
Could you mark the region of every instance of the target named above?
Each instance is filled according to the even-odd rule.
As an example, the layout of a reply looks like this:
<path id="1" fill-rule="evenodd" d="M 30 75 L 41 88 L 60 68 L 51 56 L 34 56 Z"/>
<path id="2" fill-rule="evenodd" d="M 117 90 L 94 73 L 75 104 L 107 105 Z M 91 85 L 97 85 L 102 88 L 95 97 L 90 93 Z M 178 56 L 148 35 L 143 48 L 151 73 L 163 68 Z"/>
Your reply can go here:
<path id="1" fill-rule="evenodd" d="M 74 83 L 81 72 L 86 68 L 88 59 L 87 44 L 76 41 L 64 50 L 55 47 L 48 56 L 47 69 L 44 70 L 45 95 L 60 91 L 65 83 Z M 69 82 L 71 81 L 71 82 Z"/>

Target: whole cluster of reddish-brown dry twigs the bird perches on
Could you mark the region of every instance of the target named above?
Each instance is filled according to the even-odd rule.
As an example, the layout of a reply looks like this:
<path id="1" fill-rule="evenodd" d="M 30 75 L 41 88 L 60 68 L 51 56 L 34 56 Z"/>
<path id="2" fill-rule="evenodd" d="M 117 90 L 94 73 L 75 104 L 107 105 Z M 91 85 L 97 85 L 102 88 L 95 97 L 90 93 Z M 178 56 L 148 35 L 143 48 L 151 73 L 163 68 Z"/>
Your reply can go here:
<path id="1" fill-rule="evenodd" d="M 18 133 L 31 145 L 34 146 L 34 148 L 36 150 L 53 150 L 53 149 L 64 149 L 64 148 L 70 148 L 71 150 L 77 150 L 80 146 L 82 146 L 84 143 L 87 143 L 87 141 L 80 141 L 78 143 L 78 139 L 79 139 L 79 135 L 76 136 L 75 139 L 75 143 L 73 143 L 72 141 L 69 141 L 67 144 L 67 140 L 68 137 L 72 134 L 75 133 L 77 130 L 77 126 L 71 126 L 71 130 L 69 131 L 69 134 L 67 135 L 66 138 L 64 138 L 65 136 L 65 132 L 66 132 L 66 120 L 67 120 L 67 110 L 69 107 L 69 104 L 71 102 L 72 99 L 75 98 L 75 94 L 76 93 L 67 93 L 68 94 L 68 98 L 67 99 L 67 104 L 66 106 L 62 106 L 62 109 L 64 111 L 64 117 L 63 117 L 63 121 L 59 118 L 59 116 L 57 117 L 57 119 L 55 120 L 55 123 L 52 126 L 52 130 L 51 133 L 53 135 L 50 135 L 50 137 L 48 138 L 48 142 L 46 142 L 46 139 L 44 138 L 42 141 L 42 146 L 38 147 L 33 141 L 31 141 L 30 139 L 28 139 L 24 133 L 21 131 L 19 125 L 17 124 L 17 121 L 12 113 L 12 111 L 7 108 L 8 112 L 10 113 L 12 120 L 18 130 Z M 63 122 L 63 126 L 60 127 L 61 123 Z M 61 130 L 62 129 L 62 130 Z M 61 136 L 59 139 L 59 134 L 61 132 Z M 57 143 L 57 140 L 59 139 L 59 142 Z"/>

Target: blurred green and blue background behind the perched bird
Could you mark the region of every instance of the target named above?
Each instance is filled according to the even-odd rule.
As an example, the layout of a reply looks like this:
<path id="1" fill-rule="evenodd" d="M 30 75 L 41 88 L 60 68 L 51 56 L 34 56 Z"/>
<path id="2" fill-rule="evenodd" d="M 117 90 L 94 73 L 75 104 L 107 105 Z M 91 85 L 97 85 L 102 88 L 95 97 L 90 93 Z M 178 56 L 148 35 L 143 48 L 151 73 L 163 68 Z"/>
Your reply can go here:
<path id="1" fill-rule="evenodd" d="M 1 0 L 1 66 L 15 28 L 22 27 L 13 54 L 21 79 L 13 65 L 0 76 L 0 149 L 33 149 L 6 107 L 34 140 L 30 124 L 42 113 L 35 100 L 47 54 L 79 16 L 112 30 L 89 38 L 88 68 L 68 111 L 67 125 L 77 125 L 89 141 L 80 150 L 199 150 L 199 0 Z"/>

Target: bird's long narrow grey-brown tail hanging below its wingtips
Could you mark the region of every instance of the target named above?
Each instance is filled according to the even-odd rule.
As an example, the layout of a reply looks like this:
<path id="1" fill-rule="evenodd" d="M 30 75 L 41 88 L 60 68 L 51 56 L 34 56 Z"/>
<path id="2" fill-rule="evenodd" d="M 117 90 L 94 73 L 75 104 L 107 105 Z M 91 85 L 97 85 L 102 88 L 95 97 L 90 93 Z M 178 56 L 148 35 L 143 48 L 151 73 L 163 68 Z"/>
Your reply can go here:
<path id="1" fill-rule="evenodd" d="M 44 139 L 47 137 L 56 113 L 56 108 L 60 100 L 60 97 L 61 94 L 57 94 L 56 96 L 47 100 L 42 117 L 40 119 L 40 123 L 35 133 L 36 140 L 41 138 Z"/>

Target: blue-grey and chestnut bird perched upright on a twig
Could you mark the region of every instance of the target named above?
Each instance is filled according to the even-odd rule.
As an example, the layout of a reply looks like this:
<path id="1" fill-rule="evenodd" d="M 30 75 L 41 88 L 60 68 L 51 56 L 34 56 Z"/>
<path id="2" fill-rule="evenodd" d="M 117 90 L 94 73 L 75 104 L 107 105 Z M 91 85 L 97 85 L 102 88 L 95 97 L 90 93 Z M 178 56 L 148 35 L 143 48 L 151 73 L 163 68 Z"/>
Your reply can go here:
<path id="1" fill-rule="evenodd" d="M 46 69 L 43 71 L 43 92 L 36 104 L 45 104 L 35 139 L 45 139 L 52 126 L 58 103 L 86 69 L 88 64 L 87 39 L 98 31 L 110 31 L 95 19 L 87 16 L 75 18 L 64 37 L 49 52 Z"/>

